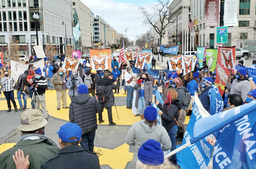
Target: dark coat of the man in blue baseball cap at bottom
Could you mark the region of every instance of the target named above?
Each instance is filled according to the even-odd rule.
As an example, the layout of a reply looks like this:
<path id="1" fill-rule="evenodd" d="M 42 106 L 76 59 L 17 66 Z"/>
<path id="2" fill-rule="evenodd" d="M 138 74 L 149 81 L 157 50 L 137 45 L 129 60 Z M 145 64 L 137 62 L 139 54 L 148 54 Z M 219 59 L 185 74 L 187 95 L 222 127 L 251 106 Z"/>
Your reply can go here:
<path id="1" fill-rule="evenodd" d="M 40 169 L 100 169 L 98 156 L 79 145 L 62 148 L 53 158 L 45 160 Z"/>

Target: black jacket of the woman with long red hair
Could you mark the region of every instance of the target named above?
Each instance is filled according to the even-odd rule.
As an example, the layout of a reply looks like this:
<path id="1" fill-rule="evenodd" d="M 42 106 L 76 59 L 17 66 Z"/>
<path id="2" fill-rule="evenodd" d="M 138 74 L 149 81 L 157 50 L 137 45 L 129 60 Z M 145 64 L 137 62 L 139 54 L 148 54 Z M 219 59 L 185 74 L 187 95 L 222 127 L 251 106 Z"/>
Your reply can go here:
<path id="1" fill-rule="evenodd" d="M 179 116 L 179 110 L 182 108 L 182 104 L 178 99 L 172 100 L 170 106 L 169 104 L 170 102 L 165 103 L 164 106 L 162 106 L 161 103 L 157 105 L 157 107 L 160 108 L 163 112 L 161 115 L 162 126 L 166 129 L 167 132 L 169 132 L 174 126 L 177 125 L 174 118 L 177 120 L 177 117 Z"/>

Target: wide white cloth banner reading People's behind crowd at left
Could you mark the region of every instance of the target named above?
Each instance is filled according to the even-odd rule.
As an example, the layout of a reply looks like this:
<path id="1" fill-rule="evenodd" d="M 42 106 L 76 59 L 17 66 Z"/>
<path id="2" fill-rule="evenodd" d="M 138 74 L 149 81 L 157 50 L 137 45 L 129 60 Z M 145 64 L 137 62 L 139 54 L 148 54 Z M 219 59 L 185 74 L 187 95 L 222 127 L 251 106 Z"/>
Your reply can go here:
<path id="1" fill-rule="evenodd" d="M 14 80 L 18 80 L 19 76 L 23 74 L 25 70 L 28 70 L 29 64 L 23 64 L 23 63 L 15 62 L 11 60 L 11 76 L 14 78 Z M 44 72 L 43 72 L 44 61 L 42 62 L 42 60 L 40 60 L 32 64 L 34 65 L 35 68 L 40 68 L 42 71 L 42 76 L 44 76 Z"/>

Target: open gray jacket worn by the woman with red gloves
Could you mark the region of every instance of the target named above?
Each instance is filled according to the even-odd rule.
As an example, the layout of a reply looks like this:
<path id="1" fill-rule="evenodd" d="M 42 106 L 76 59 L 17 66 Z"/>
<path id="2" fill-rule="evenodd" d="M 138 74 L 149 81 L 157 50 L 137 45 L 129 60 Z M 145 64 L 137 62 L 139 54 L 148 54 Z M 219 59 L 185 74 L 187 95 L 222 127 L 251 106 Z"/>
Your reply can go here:
<path id="1" fill-rule="evenodd" d="M 137 90 L 135 107 L 138 108 L 138 102 L 139 102 L 139 98 L 140 98 L 140 96 L 139 96 L 140 84 L 136 83 L 136 85 L 134 85 L 133 89 Z M 145 81 L 145 83 L 144 83 L 144 99 L 146 100 L 146 107 L 147 107 L 149 100 L 153 99 L 153 87 L 152 87 L 151 81 Z"/>

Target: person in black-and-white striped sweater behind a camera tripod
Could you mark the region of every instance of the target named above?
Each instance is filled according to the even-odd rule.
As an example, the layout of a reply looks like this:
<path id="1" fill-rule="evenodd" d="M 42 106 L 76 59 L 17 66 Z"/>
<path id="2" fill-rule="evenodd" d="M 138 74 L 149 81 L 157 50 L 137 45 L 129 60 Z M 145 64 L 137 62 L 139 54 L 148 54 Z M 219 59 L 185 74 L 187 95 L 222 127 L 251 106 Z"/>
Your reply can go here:
<path id="1" fill-rule="evenodd" d="M 40 110 L 39 106 L 41 105 L 41 108 L 43 110 L 43 116 L 48 121 L 47 109 L 45 104 L 45 89 L 47 89 L 48 84 L 45 77 L 42 76 L 42 71 L 40 68 L 36 70 L 36 76 L 32 78 L 31 81 L 28 83 L 28 88 L 31 87 L 31 85 L 33 85 L 34 87 L 33 91 L 36 90 L 36 92 L 38 93 L 38 95 L 37 93 L 35 93 L 35 97 L 33 98 L 35 109 Z M 40 99 L 42 99 L 43 103 Z"/>

